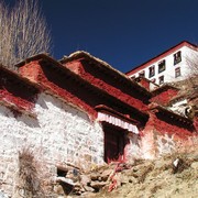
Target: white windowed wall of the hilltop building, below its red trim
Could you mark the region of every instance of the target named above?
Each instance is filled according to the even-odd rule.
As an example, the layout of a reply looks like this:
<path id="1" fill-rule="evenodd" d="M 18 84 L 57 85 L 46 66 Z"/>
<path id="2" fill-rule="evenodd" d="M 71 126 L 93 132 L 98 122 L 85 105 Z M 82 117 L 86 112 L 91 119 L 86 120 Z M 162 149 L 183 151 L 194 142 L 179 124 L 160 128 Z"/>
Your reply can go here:
<path id="1" fill-rule="evenodd" d="M 174 65 L 174 54 L 177 52 L 182 52 L 182 62 Z M 157 62 L 152 63 L 151 65 L 147 65 L 144 69 L 140 69 L 138 73 L 135 73 L 132 76 L 139 77 L 139 73 L 143 72 L 145 73 L 145 77 L 150 80 L 152 79 L 156 79 L 156 84 L 160 82 L 158 78 L 161 76 L 164 76 L 164 82 L 170 82 L 170 81 L 178 81 L 182 79 L 185 79 L 186 77 L 188 77 L 189 73 L 190 73 L 190 64 L 194 63 L 194 58 L 198 58 L 198 52 L 191 50 L 188 46 L 183 46 L 177 51 L 172 52 L 172 54 L 167 55 L 166 57 L 163 57 L 161 59 L 158 59 Z M 158 74 L 158 63 L 162 62 L 163 59 L 165 59 L 166 62 L 166 69 L 162 73 Z M 155 67 L 155 75 L 153 77 L 148 77 L 148 68 L 151 66 Z M 175 78 L 175 69 L 180 67 L 180 77 Z"/>

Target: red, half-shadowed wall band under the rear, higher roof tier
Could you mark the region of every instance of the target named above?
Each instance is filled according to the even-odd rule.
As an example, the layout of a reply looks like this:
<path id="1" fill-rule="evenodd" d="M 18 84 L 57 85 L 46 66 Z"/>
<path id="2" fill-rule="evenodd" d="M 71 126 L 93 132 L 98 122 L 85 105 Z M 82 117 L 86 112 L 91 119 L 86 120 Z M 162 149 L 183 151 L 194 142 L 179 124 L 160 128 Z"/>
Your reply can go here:
<path id="1" fill-rule="evenodd" d="M 73 72 L 77 73 L 91 85 L 109 92 L 111 96 L 138 109 L 146 109 L 146 97 L 143 94 L 136 94 L 140 89 L 139 85 L 134 86 L 134 82 L 131 82 L 131 86 L 125 86 L 124 82 L 118 81 L 119 78 L 110 76 L 107 72 L 105 73 L 102 69 L 98 69 L 96 65 L 84 63 L 82 61 L 75 61 L 74 65 L 73 62 L 68 63 L 67 65 L 68 68 L 73 69 Z"/>

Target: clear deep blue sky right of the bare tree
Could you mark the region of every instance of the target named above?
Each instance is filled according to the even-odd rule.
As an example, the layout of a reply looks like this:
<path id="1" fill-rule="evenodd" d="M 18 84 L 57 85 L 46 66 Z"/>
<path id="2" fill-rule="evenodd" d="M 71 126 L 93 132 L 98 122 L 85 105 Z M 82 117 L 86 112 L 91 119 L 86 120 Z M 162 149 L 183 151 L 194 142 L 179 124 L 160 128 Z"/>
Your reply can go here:
<path id="1" fill-rule="evenodd" d="M 198 43 L 198 0 L 38 1 L 56 59 L 87 51 L 128 72 L 184 40 Z"/>

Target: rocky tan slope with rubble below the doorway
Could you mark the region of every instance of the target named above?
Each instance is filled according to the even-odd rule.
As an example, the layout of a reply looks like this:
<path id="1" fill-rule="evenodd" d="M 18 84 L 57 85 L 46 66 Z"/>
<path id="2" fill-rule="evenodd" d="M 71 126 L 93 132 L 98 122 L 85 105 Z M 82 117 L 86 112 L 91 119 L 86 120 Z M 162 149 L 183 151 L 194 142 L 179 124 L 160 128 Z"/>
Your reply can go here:
<path id="1" fill-rule="evenodd" d="M 64 179 L 55 191 L 61 197 L 112 198 L 197 198 L 198 152 L 175 153 L 155 161 L 111 164 L 76 170 L 65 176 L 70 190 L 64 191 Z M 65 186 L 66 187 L 66 186 Z M 67 196 L 65 195 L 67 194 Z"/>

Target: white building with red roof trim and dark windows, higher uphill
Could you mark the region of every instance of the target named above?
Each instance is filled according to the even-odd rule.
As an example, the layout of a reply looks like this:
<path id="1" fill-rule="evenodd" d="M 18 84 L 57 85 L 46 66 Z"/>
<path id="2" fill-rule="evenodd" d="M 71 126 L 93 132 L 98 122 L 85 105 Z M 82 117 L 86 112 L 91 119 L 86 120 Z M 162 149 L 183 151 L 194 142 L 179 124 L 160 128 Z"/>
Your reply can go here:
<path id="1" fill-rule="evenodd" d="M 189 76 L 197 55 L 198 47 L 184 41 L 128 72 L 127 76 L 145 77 L 157 85 L 183 80 Z"/>

